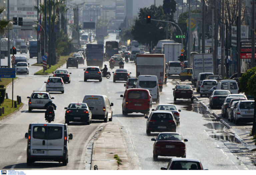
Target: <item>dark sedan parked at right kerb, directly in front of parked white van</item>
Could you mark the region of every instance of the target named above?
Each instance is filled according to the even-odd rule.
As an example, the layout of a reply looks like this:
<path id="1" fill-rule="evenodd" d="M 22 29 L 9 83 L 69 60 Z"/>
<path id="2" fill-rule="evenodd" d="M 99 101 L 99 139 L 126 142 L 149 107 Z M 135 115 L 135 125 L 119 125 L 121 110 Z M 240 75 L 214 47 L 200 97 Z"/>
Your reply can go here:
<path id="1" fill-rule="evenodd" d="M 228 94 L 230 94 L 229 90 L 214 90 L 209 100 L 210 108 L 222 106 Z"/>

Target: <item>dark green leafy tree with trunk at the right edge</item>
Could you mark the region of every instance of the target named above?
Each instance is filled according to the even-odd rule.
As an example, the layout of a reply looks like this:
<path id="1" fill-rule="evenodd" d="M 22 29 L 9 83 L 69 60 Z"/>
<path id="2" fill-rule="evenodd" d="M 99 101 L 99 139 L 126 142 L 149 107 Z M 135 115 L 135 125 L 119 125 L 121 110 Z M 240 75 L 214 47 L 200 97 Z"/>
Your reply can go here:
<path id="1" fill-rule="evenodd" d="M 253 95 L 254 101 L 256 101 L 256 67 L 248 69 L 239 78 L 240 89 L 245 94 Z M 256 135 L 256 106 L 254 105 L 252 135 Z"/>

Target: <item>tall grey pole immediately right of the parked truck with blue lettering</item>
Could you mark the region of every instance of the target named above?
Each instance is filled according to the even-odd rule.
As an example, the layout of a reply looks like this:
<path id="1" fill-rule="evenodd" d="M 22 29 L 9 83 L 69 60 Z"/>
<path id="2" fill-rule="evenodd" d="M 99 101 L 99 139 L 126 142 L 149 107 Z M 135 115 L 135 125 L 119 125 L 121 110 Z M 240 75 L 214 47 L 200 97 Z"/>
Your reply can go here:
<path id="1" fill-rule="evenodd" d="M 218 56 L 218 21 L 217 21 L 217 0 L 215 0 L 215 14 L 214 14 L 214 53 L 213 53 L 213 73 L 217 74 L 217 56 Z"/>

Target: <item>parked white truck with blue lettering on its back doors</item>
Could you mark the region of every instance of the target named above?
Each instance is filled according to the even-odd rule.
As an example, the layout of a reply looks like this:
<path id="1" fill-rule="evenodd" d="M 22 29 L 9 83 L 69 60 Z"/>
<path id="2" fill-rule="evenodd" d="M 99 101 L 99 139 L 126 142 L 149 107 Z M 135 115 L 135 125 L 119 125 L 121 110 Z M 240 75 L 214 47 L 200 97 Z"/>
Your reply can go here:
<path id="1" fill-rule="evenodd" d="M 213 72 L 213 54 L 212 53 L 202 53 L 192 55 L 192 78 L 191 82 L 197 82 L 198 74 L 203 72 Z"/>

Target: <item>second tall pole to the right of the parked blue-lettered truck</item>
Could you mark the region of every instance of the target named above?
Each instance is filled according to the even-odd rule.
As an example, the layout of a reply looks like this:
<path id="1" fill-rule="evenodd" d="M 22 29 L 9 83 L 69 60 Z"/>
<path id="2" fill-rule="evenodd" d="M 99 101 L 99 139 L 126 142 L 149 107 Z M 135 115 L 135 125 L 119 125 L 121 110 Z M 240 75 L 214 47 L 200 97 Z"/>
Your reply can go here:
<path id="1" fill-rule="evenodd" d="M 222 17 L 221 18 L 221 75 L 222 75 L 222 77 L 225 77 L 225 69 L 224 69 L 224 53 L 225 53 L 224 0 L 222 0 L 222 5 L 221 5 L 221 17 Z"/>

